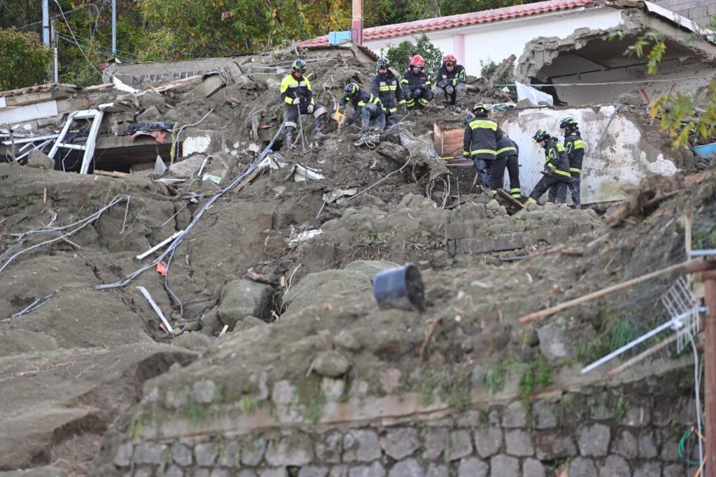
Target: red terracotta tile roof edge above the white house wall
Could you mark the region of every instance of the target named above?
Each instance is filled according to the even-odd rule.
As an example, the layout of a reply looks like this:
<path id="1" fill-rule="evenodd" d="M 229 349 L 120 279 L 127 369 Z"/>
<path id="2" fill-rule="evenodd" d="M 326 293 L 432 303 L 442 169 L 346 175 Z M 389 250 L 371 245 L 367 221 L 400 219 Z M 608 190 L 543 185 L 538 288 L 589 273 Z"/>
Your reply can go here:
<path id="1" fill-rule="evenodd" d="M 408 21 L 394 25 L 373 26 L 363 30 L 363 41 L 375 41 L 395 36 L 405 36 L 425 31 L 445 30 L 493 21 L 531 16 L 548 11 L 568 10 L 596 3 L 597 0 L 548 0 L 534 4 L 505 6 L 501 9 L 475 11 L 469 14 L 440 16 L 438 18 Z M 301 41 L 299 46 L 318 46 L 328 44 L 328 36 L 319 36 L 311 40 Z"/>

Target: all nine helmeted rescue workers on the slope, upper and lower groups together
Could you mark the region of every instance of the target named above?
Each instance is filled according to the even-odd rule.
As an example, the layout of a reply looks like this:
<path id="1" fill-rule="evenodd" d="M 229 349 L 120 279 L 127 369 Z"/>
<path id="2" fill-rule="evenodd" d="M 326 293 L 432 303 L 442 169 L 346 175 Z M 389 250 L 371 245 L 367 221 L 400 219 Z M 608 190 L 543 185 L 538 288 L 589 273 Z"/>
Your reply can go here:
<path id="1" fill-rule="evenodd" d="M 346 105 L 352 104 L 354 112 L 341 128 L 347 127 L 359 118 L 362 129 L 374 127 L 384 129 L 397 123 L 397 109 L 402 112 L 422 114 L 422 109 L 433 99 L 446 104 L 461 102 L 466 95 L 465 68 L 458 64 L 455 56 L 445 55 L 437 77 L 435 89 L 423 72 L 425 59 L 415 55 L 399 80 L 390 71 L 390 62 L 380 58 L 376 64 L 376 76 L 370 89 L 349 83 L 339 102 L 339 111 L 344 113 Z M 304 77 L 306 62 L 297 59 L 291 65 L 291 73 L 281 82 L 281 99 L 286 104 L 286 122 L 284 123 L 284 146 L 290 150 L 294 139 L 294 130 L 299 127 L 301 115 L 313 114 L 316 119 L 314 138 L 324 137 L 326 108 L 316 103 L 311 92 L 311 82 Z M 518 145 L 502 132 L 498 124 L 488 117 L 485 104 L 473 106 L 472 114 L 465 119 L 463 157 L 470 158 L 475 164 L 482 185 L 495 195 L 503 187 L 505 168 L 510 178 L 511 197 L 521 199 L 519 180 Z M 296 122 L 298 121 L 298 123 Z M 543 177 L 528 197 L 528 202 L 536 203 L 544 192 L 549 190 L 550 202 L 566 202 L 566 191 L 571 191 L 576 208 L 581 207 L 580 177 L 581 163 L 584 158 L 584 140 L 581 139 L 579 124 L 567 117 L 559 127 L 564 132 L 564 144 L 543 129 L 533 136 L 536 143 L 545 149 Z"/>

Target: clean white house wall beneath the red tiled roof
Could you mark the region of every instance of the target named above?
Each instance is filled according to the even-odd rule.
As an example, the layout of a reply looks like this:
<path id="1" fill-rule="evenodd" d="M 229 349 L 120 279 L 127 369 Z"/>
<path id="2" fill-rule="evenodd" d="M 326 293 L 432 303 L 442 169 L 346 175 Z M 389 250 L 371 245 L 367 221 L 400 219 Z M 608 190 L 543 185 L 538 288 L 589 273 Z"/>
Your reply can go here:
<path id="1" fill-rule="evenodd" d="M 458 62 L 465 66 L 468 74 L 480 76 L 480 60 L 483 62 L 501 62 L 511 54 L 518 58 L 528 41 L 538 36 L 558 36 L 565 38 L 579 28 L 608 29 L 619 25 L 621 13 L 610 7 L 594 9 L 576 9 L 566 12 L 553 12 L 527 16 L 519 19 L 495 21 L 488 24 L 476 24 L 455 29 L 428 31 L 426 34 L 443 54 L 460 51 L 458 42 L 464 38 L 465 58 L 458 56 Z M 416 32 L 416 34 L 418 34 Z M 379 53 L 413 36 L 365 41 L 364 45 Z M 400 69 L 400 68 L 398 68 Z"/>

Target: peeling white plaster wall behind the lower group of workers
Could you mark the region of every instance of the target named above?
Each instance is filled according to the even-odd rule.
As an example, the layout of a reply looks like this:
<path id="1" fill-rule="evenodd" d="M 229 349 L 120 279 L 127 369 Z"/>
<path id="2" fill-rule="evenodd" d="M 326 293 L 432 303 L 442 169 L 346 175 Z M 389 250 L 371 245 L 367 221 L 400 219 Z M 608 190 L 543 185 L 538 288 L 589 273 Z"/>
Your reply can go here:
<path id="1" fill-rule="evenodd" d="M 586 143 L 581 182 L 583 204 L 623 200 L 621 185 L 636 184 L 647 174 L 672 175 L 677 172 L 674 162 L 664 156 L 664 152 L 658 149 L 659 145 L 649 144 L 642 137 L 642 128 L 624 114 L 616 114 L 597 150 L 596 144 L 613 112 L 614 106 L 594 110 L 529 109 L 519 112 L 516 119 L 508 119 L 500 124 L 520 147 L 523 194 L 532 191 L 542 177 L 540 171 L 544 169 L 544 149 L 534 144 L 533 134 L 537 129 L 546 129 L 562 141 L 559 122 L 568 116 L 579 122 L 582 139 Z M 505 186 L 509 186 L 506 171 Z"/>

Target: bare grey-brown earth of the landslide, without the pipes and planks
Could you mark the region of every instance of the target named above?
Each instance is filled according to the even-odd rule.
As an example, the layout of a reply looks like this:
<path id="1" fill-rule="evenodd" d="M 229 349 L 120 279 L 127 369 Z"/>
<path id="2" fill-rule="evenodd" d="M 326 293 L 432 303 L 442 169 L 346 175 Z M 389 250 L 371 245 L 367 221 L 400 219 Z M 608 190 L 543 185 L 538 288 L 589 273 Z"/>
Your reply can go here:
<path id="1" fill-rule="evenodd" d="M 312 64 L 310 73 L 316 96 L 331 109 L 344 84 L 369 83 L 372 65 L 328 59 Z M 163 101 L 173 108 L 158 119 L 191 124 L 213 109 L 200 129 L 225 133 L 229 145 L 253 142 L 263 148 L 283 114 L 276 78 L 233 79 L 211 99 L 166 94 Z M 476 99 L 470 94 L 466 104 Z M 446 114 L 460 117 L 432 109 L 401 127 L 427 138 L 432 122 Z M 257 124 L 267 127 L 257 126 L 253 134 Z M 320 148 L 274 155 L 289 167 L 264 170 L 205 212 L 170 264 L 175 297 L 154 269 L 123 287 L 96 287 L 149 262 L 135 256 L 185 229 L 220 186 L 194 180 L 168 187 L 149 177 L 0 164 L 0 471 L 87 473 L 102 434 L 139 402 L 142 385 L 155 376 L 153 385 L 163 392 L 198 377 L 253 383 L 266 372 L 271 382 L 297 380 L 316 351 L 333 348 L 347 356 L 354 379 L 376 383 L 382 370 L 399 368 L 408 377 L 406 389 L 420 389 L 437 375 L 469 379 L 508 359 L 524 365 L 541 353 L 542 325 L 520 325 L 522 315 L 683 260 L 681 217 L 687 210 L 708 217 L 697 235 L 701 245 L 711 243 L 716 182 L 707 172 L 701 182 L 645 181 L 628 202 L 632 215 L 615 225 L 589 210 L 531 207 L 514 214 L 499 204 L 485 218 L 488 227 L 497 227 L 490 234 L 563 224 L 597 228 L 562 245 L 539 243 L 459 259 L 446 250 L 446 223 L 475 220 L 475 207 L 492 207 L 490 197 L 470 190 L 471 169 L 454 171 L 448 192 L 448 182 L 439 179 L 447 169 L 434 159 L 414 157 L 403 167 L 412 153 L 396 134 L 365 147 L 354 144 L 351 129 L 337 138 L 335 124 L 329 124 L 326 132 Z M 223 168 L 229 180 L 238 177 L 255 153 L 243 146 L 236 152 L 215 154 L 208 170 Z M 324 178 L 294 182 L 288 174 L 294 164 L 319 169 Z M 360 195 L 324 204 L 326 192 L 351 188 Z M 673 191 L 680 192 L 654 203 Z M 188 198 L 195 195 L 200 197 Z M 108 205 L 77 233 L 62 237 L 77 225 L 49 230 Z M 319 229 L 313 239 L 294 240 Z M 40 245 L 44 241 L 52 242 Z M 372 275 L 390 262 L 407 261 L 422 268 L 426 312 L 379 310 Z M 248 286 L 241 280 L 263 287 L 258 305 L 243 303 L 241 292 L 236 297 L 236 283 Z M 653 311 L 669 280 L 554 317 L 550 323 L 559 323 L 572 343 L 569 359 L 601 352 L 589 343 L 607 340 L 615 315 Z M 160 327 L 137 286 L 150 292 L 175 334 Z M 234 298 L 241 303 L 231 313 L 241 317 L 217 340 Z M 37 300 L 39 307 L 16 315 Z M 418 353 L 435 320 L 439 325 L 420 368 Z M 224 399 L 237 397 L 229 393 Z M 113 429 L 122 426 L 126 418 Z"/>

